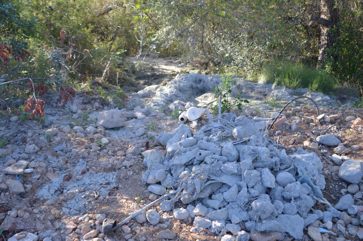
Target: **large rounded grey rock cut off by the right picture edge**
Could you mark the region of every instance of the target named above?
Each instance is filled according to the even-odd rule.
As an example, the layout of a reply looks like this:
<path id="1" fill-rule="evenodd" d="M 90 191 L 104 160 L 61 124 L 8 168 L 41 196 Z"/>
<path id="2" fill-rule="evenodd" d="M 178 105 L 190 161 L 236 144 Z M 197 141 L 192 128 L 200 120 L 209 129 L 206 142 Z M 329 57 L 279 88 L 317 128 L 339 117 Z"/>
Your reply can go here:
<path id="1" fill-rule="evenodd" d="M 345 161 L 339 169 L 339 177 L 350 183 L 358 184 L 362 179 L 363 171 L 359 161 Z"/>

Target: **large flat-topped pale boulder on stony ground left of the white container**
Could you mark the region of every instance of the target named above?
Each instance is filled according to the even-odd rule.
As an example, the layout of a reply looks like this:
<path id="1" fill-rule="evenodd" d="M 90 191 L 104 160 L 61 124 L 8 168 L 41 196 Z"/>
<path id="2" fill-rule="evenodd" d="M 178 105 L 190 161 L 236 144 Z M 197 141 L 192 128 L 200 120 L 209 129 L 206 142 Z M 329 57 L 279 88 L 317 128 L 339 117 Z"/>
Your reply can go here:
<path id="1" fill-rule="evenodd" d="M 105 128 L 115 128 L 125 126 L 125 121 L 125 113 L 114 109 L 99 112 L 96 125 L 102 125 Z"/>

